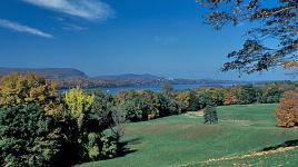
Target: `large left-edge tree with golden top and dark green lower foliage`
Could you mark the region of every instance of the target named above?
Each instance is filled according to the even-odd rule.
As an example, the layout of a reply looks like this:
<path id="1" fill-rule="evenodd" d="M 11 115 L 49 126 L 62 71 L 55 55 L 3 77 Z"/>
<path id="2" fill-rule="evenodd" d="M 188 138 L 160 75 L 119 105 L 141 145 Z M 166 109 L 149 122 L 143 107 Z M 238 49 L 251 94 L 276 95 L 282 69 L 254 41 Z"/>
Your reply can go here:
<path id="1" fill-rule="evenodd" d="M 0 80 L 0 166 L 54 166 L 62 150 L 57 85 L 33 72 Z"/>

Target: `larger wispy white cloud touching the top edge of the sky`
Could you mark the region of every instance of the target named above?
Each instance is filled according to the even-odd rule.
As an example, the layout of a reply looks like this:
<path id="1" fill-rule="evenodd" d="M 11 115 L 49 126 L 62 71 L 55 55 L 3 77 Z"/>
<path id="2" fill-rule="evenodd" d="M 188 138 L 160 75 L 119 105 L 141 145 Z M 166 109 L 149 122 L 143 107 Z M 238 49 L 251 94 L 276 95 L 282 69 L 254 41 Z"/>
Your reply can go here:
<path id="1" fill-rule="evenodd" d="M 100 0 L 23 0 L 24 2 L 88 20 L 106 20 L 112 14 Z"/>

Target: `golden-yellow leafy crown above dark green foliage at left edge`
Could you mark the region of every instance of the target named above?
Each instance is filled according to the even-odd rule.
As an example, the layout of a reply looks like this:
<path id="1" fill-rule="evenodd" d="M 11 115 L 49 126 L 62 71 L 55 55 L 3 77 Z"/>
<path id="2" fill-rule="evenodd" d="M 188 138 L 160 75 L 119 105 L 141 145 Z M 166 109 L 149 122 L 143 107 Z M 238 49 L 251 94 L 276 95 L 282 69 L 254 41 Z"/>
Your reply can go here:
<path id="1" fill-rule="evenodd" d="M 58 115 L 62 105 L 57 97 L 57 82 L 34 72 L 12 72 L 0 79 L 0 107 L 37 104 L 48 115 Z"/>

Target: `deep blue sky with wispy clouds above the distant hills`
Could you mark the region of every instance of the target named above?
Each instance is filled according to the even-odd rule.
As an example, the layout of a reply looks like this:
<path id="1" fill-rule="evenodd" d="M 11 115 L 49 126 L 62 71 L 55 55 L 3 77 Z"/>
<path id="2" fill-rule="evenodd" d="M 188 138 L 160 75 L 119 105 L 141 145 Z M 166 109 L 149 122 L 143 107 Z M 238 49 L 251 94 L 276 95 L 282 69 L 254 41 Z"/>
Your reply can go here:
<path id="1" fill-rule="evenodd" d="M 195 0 L 3 0 L 1 67 L 71 67 L 89 76 L 152 73 L 294 79 L 288 71 L 220 72 L 246 24 L 215 31 Z"/>

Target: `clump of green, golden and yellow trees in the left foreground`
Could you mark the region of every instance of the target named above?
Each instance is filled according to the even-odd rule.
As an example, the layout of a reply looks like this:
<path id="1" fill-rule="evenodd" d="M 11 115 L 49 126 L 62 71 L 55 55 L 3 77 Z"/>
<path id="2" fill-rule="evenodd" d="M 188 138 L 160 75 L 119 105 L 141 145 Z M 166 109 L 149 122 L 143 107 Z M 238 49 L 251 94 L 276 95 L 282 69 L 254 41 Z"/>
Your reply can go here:
<path id="1" fill-rule="evenodd" d="M 53 82 L 32 72 L 2 77 L 0 166 L 71 166 L 115 157 L 121 129 L 117 140 L 103 131 L 122 121 L 109 102 L 78 88 L 62 98 Z"/>

